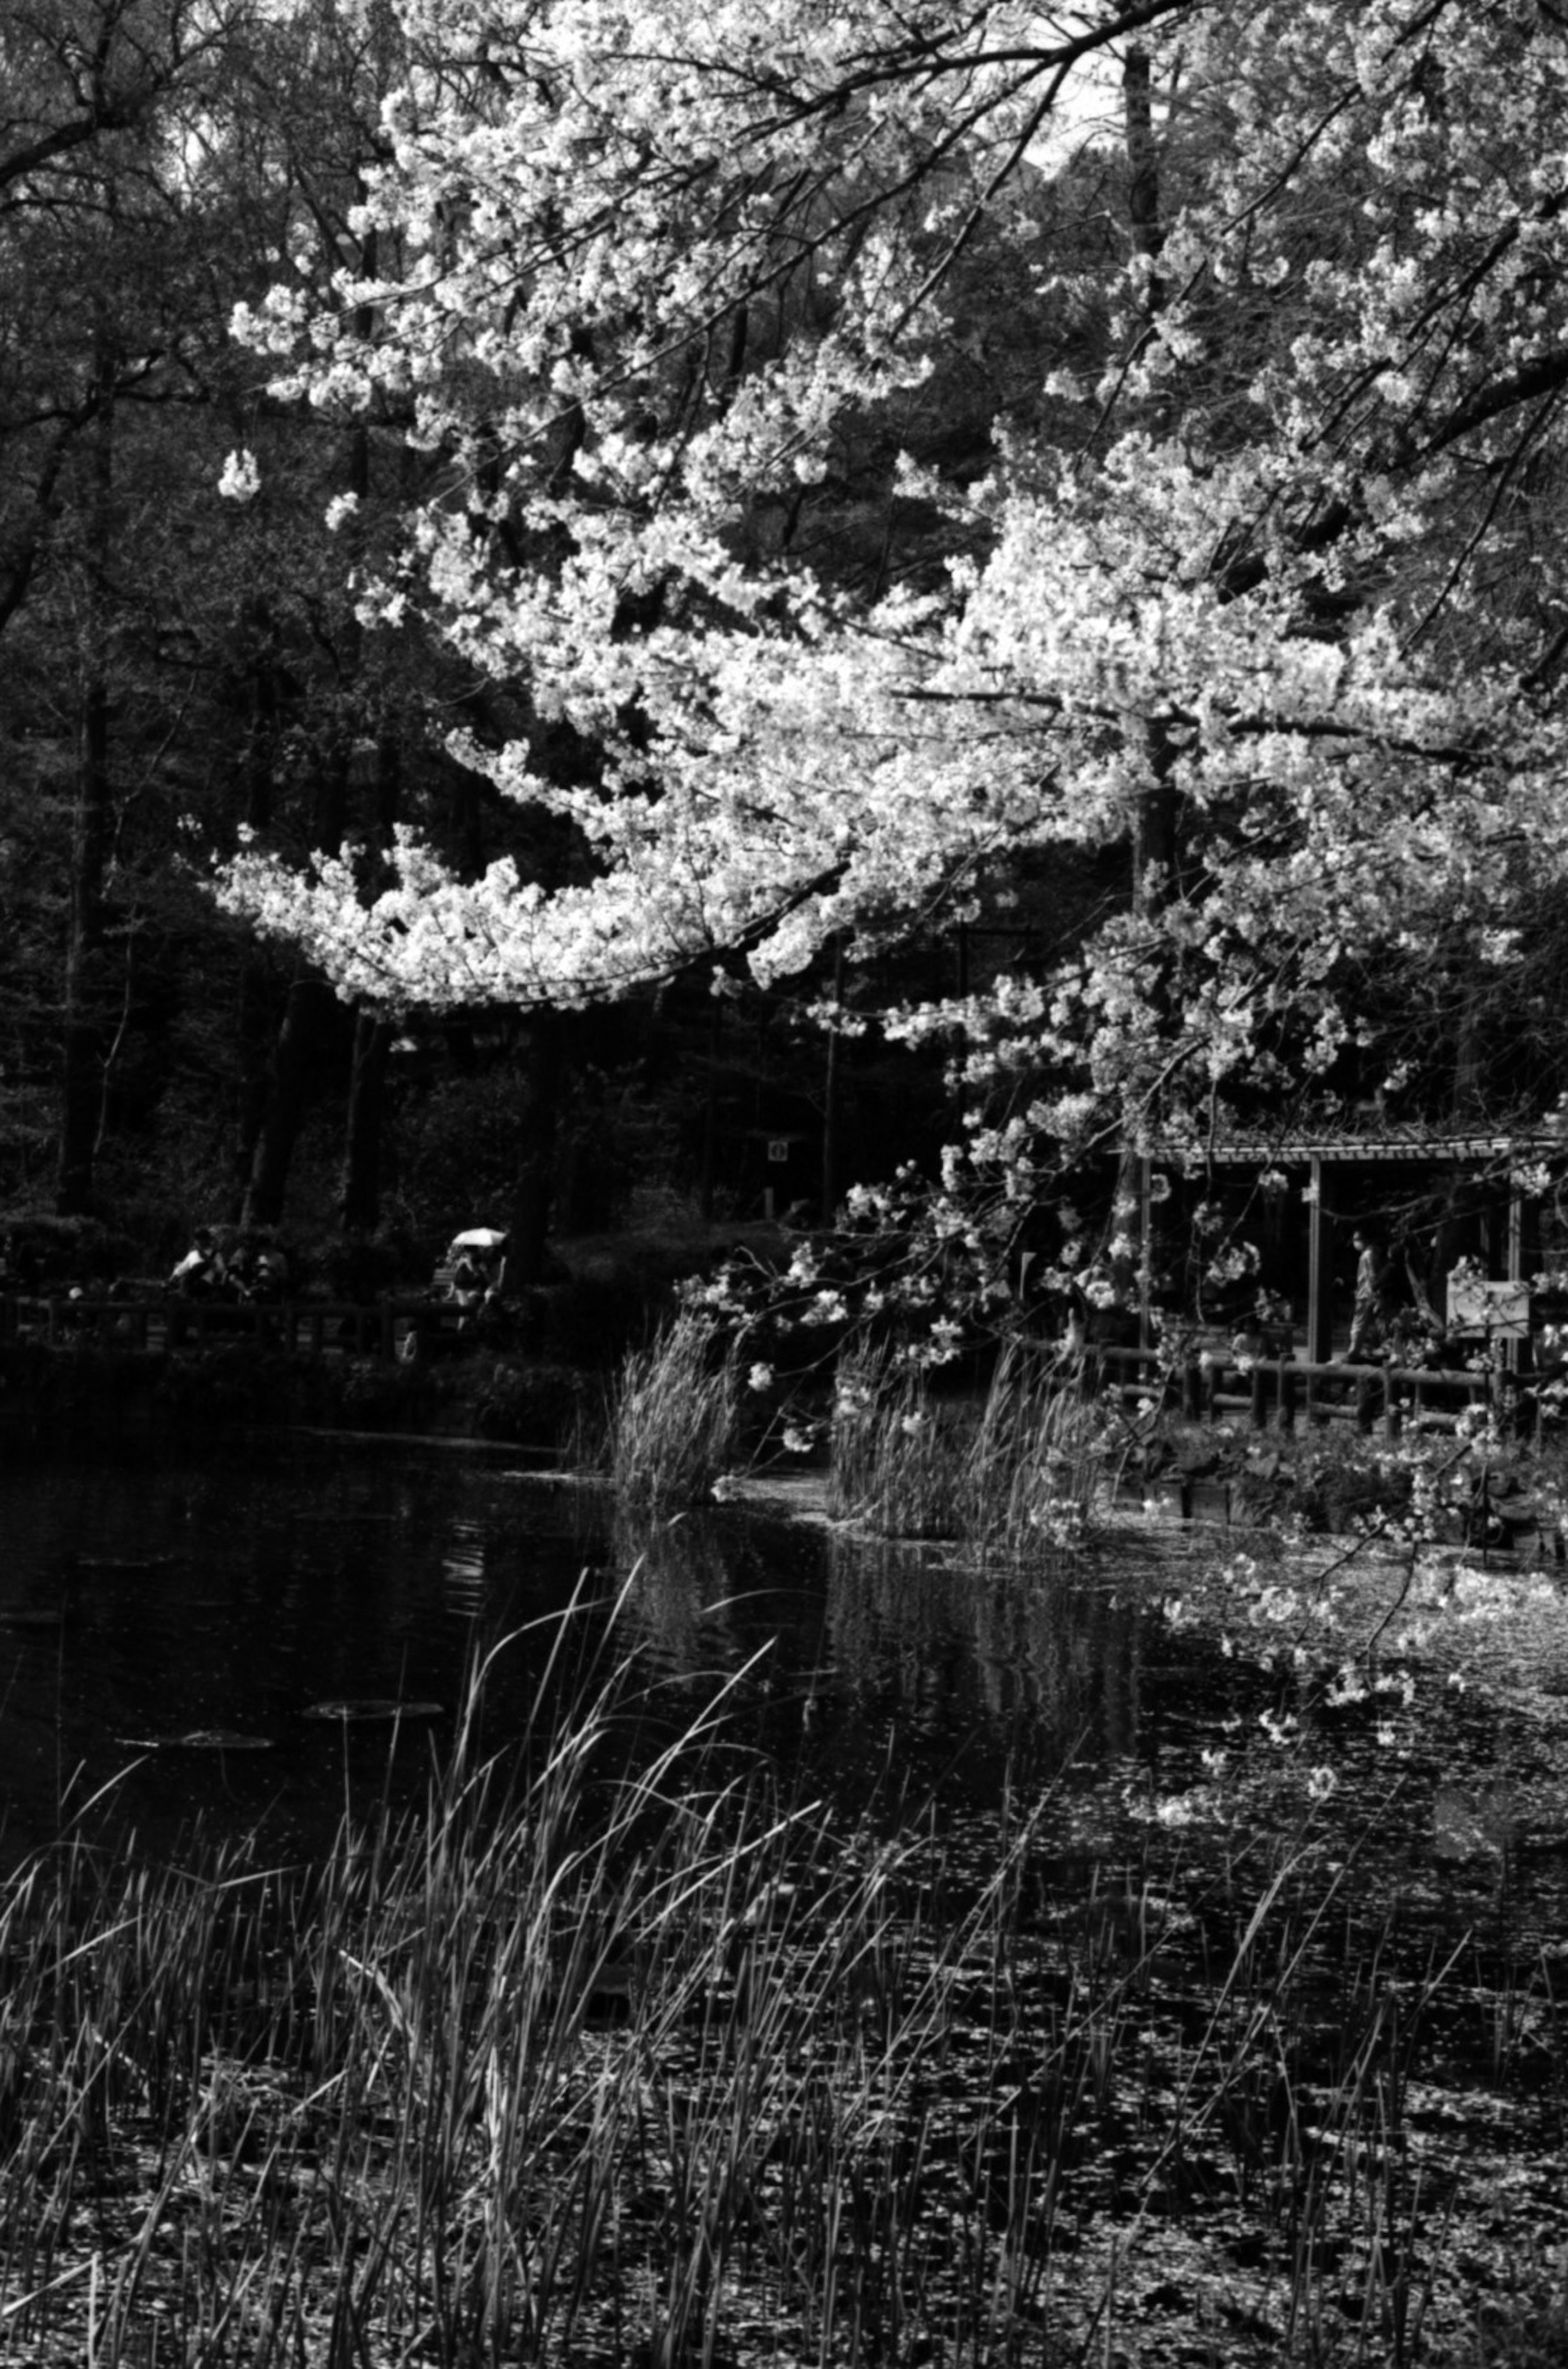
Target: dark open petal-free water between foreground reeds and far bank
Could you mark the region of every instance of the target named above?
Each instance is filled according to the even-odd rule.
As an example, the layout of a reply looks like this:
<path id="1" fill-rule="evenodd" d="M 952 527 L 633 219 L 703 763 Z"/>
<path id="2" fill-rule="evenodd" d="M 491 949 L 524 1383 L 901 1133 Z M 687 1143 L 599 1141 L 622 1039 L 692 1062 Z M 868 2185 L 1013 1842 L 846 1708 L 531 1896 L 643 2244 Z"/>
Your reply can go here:
<path id="1" fill-rule="evenodd" d="M 142 1836 L 201 1817 L 320 1845 L 346 1791 L 417 1791 L 464 1670 L 497 1639 L 486 1736 L 519 1739 L 573 1594 L 590 1601 L 573 1665 L 621 1597 L 611 1644 L 640 1651 L 654 1732 L 730 1677 L 734 1746 L 803 1765 L 846 1808 L 928 1786 L 995 1800 L 1009 1767 L 1137 1751 L 1172 1715 L 1142 1616 L 1104 1590 L 976 1590 L 928 1556 L 850 1554 L 756 1514 L 632 1537 L 602 1492 L 407 1445 L 9 1455 L 5 1857 L 104 1786 Z M 398 1729 L 310 1718 L 343 1699 L 441 1710 Z M 175 1748 L 213 1729 L 268 1748 Z"/>

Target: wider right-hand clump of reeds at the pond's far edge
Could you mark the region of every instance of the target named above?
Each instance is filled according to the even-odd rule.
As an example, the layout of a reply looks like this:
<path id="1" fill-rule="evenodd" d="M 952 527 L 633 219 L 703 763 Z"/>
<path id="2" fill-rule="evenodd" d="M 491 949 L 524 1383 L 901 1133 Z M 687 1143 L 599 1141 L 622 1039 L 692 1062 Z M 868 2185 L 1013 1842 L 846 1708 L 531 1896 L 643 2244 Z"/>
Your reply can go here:
<path id="1" fill-rule="evenodd" d="M 1101 1414 L 1054 1350 L 1007 1341 L 978 1405 L 943 1400 L 886 1346 L 841 1357 L 829 1507 L 843 1519 L 1026 1561 L 1082 1537 L 1104 1481 Z"/>

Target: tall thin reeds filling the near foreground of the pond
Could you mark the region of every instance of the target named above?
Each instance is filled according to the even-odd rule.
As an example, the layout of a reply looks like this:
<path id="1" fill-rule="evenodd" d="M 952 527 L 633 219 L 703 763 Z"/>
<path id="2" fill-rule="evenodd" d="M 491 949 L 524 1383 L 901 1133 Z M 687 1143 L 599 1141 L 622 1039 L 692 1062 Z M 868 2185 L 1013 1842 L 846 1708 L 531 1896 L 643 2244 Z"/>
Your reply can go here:
<path id="1" fill-rule="evenodd" d="M 78 1822 L 9 1881 L 0 2357 L 1099 2362 L 1213 2217 L 1258 2345 L 1232 2255 L 1177 2322 L 1165 2272 L 1189 2350 L 1144 2360 L 1554 2357 L 1435 2350 L 1459 2203 L 1409 2099 L 1454 1969 L 1348 1945 L 1305 1831 L 1184 1907 L 1125 1862 L 1066 1902 L 1049 1793 L 981 1853 L 843 1824 L 734 1744 L 744 1670 L 670 1727 L 590 1663 L 547 1720 L 573 1635 L 521 1751 L 478 1668 L 424 1808 L 322 1867 Z"/>

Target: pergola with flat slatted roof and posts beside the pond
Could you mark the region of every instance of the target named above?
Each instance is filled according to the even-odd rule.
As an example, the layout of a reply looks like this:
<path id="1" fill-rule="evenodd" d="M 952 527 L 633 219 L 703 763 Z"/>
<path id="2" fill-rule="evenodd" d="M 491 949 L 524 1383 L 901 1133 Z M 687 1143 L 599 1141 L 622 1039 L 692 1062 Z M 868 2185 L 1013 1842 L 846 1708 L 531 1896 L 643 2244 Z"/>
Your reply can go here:
<path id="1" fill-rule="evenodd" d="M 1180 1166 L 1191 1170 L 1187 1147 Z M 1144 1177 L 1144 1327 L 1149 1317 L 1149 1244 L 1153 1239 L 1153 1177 L 1177 1166 L 1170 1147 L 1153 1149 L 1142 1166 Z M 1528 1170 L 1542 1168 L 1559 1177 L 1568 1173 L 1568 1132 L 1535 1130 L 1528 1135 L 1440 1135 L 1421 1128 L 1381 1128 L 1367 1132 L 1300 1135 L 1229 1135 L 1203 1147 L 1203 1168 L 1213 1175 L 1251 1173 L 1272 1187 L 1289 1206 L 1300 1206 L 1305 1234 L 1305 1357 L 1326 1365 L 1334 1355 L 1336 1312 L 1336 1232 L 1355 1225 L 1376 1201 L 1400 1187 L 1428 1194 L 1447 1177 L 1450 1184 L 1473 1182 L 1469 1222 L 1478 1234 L 1476 1256 L 1499 1282 L 1521 1284 L 1540 1265 L 1542 1227 L 1540 1194 L 1528 1189 Z M 1352 1208 L 1355 1203 L 1355 1208 Z M 1563 1225 L 1551 1206 L 1554 1230 Z M 1563 1248 L 1551 1244 L 1551 1248 Z"/>

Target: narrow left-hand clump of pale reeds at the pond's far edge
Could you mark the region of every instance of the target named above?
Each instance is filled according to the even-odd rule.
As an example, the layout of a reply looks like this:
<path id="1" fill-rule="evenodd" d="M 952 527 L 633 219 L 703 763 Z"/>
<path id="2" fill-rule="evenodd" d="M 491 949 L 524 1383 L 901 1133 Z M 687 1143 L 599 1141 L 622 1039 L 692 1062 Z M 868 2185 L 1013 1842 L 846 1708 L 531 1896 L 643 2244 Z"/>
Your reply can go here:
<path id="1" fill-rule="evenodd" d="M 616 1379 L 604 1462 L 621 1504 L 663 1514 L 711 1497 L 734 1462 L 739 1405 L 734 1341 L 682 1310 Z"/>

